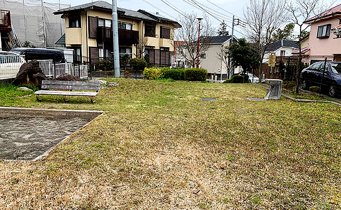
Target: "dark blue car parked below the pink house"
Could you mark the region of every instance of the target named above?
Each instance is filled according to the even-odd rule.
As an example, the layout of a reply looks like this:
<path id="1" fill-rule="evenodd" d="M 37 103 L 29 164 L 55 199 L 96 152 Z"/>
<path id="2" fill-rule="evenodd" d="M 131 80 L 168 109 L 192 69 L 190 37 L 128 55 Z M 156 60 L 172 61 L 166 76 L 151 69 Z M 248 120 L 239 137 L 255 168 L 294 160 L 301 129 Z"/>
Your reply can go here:
<path id="1" fill-rule="evenodd" d="M 311 86 L 320 87 L 323 71 L 322 91 L 327 91 L 331 97 L 340 95 L 341 91 L 341 62 L 317 62 L 302 70 L 300 81 L 303 89 Z"/>

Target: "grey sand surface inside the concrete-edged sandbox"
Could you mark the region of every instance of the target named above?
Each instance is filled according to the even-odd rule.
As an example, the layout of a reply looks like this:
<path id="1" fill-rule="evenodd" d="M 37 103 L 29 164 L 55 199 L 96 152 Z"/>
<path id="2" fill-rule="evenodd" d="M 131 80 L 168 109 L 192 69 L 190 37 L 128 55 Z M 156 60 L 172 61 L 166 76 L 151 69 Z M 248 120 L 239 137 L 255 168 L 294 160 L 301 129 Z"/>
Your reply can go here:
<path id="1" fill-rule="evenodd" d="M 86 123 L 80 118 L 0 118 L 0 158 L 33 160 Z"/>

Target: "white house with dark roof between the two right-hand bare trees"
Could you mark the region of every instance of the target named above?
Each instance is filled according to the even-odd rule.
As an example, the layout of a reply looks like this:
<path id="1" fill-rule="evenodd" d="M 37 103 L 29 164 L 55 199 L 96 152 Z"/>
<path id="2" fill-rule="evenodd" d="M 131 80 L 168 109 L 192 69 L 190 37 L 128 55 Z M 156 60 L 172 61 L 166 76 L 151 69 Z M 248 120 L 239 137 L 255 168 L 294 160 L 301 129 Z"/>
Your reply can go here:
<path id="1" fill-rule="evenodd" d="M 271 43 L 265 51 L 263 63 L 269 62 L 269 55 L 277 56 L 291 56 L 293 52 L 299 49 L 297 41 L 293 40 L 279 40 Z"/>

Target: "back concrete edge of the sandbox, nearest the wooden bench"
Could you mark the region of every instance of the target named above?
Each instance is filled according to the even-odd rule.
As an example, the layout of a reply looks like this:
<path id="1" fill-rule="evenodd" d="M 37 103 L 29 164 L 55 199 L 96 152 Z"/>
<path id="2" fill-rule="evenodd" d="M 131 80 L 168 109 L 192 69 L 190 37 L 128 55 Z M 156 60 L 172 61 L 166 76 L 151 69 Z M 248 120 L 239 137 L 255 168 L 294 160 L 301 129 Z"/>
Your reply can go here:
<path id="1" fill-rule="evenodd" d="M 20 108 L 0 106 L 0 118 L 8 117 L 45 117 L 45 118 L 82 118 L 92 120 L 104 111 L 74 110 L 74 109 L 47 109 L 47 108 Z"/>

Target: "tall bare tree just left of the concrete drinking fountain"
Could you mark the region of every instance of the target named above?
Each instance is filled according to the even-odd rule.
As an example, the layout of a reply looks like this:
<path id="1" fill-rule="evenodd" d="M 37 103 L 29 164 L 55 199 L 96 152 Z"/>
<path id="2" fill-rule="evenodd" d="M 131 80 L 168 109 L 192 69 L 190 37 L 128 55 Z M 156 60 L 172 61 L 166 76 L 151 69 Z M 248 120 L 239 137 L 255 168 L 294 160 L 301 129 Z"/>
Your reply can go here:
<path id="1" fill-rule="evenodd" d="M 283 0 L 248 0 L 244 10 L 248 39 L 259 54 L 259 78 L 262 78 L 262 63 L 271 35 L 287 19 L 287 10 Z M 261 80 L 260 80 L 261 82 Z"/>

